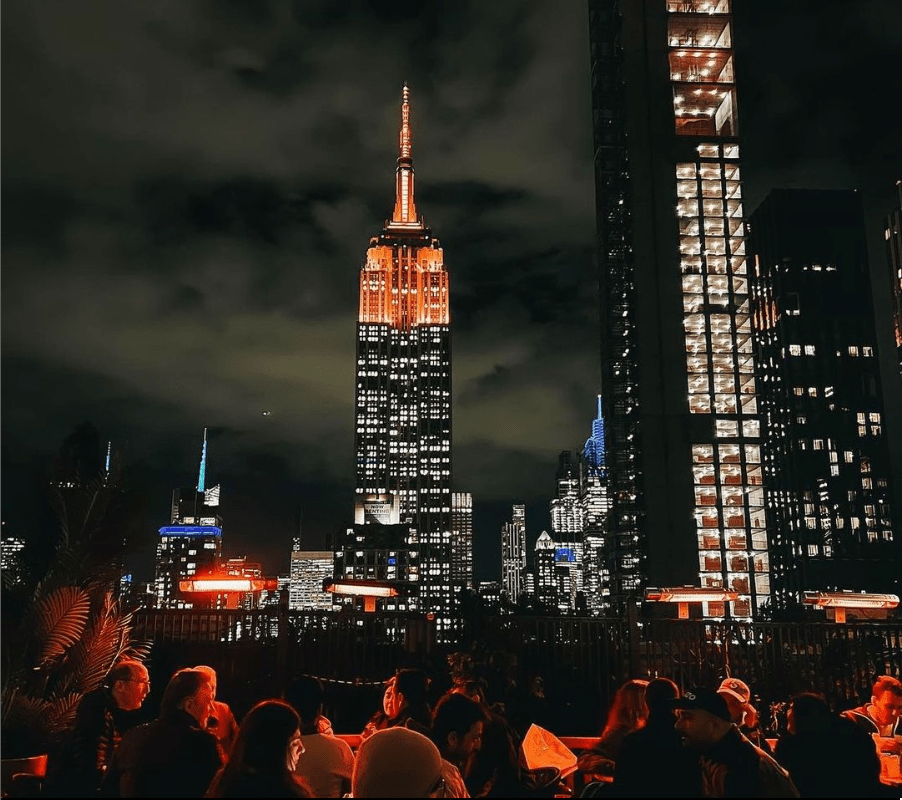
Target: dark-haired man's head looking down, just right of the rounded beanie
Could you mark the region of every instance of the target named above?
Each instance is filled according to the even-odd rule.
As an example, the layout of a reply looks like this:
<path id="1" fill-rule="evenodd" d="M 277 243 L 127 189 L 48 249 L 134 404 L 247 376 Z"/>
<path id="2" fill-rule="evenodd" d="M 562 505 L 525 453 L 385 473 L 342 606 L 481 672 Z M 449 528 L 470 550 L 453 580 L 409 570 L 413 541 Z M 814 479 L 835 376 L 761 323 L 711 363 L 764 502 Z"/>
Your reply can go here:
<path id="1" fill-rule="evenodd" d="M 469 797 L 466 777 L 482 745 L 486 715 L 479 703 L 463 694 L 449 692 L 436 704 L 432 741 L 445 764 L 445 785 L 454 797 Z"/>

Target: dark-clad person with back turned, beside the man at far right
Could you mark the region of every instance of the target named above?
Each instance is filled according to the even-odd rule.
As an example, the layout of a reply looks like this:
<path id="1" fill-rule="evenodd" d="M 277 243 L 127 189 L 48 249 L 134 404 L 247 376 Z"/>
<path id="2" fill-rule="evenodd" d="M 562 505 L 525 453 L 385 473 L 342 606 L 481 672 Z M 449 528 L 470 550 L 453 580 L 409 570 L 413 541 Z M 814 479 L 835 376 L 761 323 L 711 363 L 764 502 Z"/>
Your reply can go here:
<path id="1" fill-rule="evenodd" d="M 802 797 L 880 796 L 880 758 L 873 739 L 852 720 L 830 711 L 823 695 L 793 697 L 786 730 L 775 757 Z"/>

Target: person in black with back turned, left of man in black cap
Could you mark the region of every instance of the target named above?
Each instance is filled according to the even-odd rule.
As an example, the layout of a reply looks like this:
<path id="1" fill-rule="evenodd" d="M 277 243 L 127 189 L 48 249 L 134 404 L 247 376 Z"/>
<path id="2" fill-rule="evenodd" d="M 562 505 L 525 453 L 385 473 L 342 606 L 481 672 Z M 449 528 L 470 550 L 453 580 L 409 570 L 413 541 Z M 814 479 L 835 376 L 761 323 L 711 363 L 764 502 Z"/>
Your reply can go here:
<path id="1" fill-rule="evenodd" d="M 674 728 L 673 702 L 679 696 L 669 678 L 655 678 L 645 687 L 645 725 L 624 737 L 614 766 L 617 797 L 701 796 L 698 757 Z"/>

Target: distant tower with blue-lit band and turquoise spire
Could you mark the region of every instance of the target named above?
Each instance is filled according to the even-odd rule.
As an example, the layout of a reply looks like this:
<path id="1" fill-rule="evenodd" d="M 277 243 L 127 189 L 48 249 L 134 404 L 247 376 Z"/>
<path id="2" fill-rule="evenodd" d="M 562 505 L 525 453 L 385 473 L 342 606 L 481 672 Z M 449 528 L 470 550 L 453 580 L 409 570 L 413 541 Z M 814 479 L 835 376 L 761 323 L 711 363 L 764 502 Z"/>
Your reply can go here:
<path id="1" fill-rule="evenodd" d="M 154 570 L 154 605 L 157 608 L 197 608 L 186 601 L 179 581 L 195 573 L 210 572 L 222 560 L 222 519 L 218 513 L 219 486 L 207 488 L 207 431 L 196 487 L 176 489 L 168 525 L 160 528 Z M 216 601 L 203 601 L 205 607 Z"/>

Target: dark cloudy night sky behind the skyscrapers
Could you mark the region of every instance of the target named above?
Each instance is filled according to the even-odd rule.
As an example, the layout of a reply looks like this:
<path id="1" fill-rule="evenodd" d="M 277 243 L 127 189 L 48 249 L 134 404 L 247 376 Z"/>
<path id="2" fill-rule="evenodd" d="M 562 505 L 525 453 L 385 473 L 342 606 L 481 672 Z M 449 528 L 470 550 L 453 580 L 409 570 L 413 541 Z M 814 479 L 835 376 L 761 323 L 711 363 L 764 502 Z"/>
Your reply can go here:
<path id="1" fill-rule="evenodd" d="M 902 3 L 736 5 L 746 210 L 778 186 L 860 188 L 889 343 Z M 531 539 L 549 526 L 557 454 L 598 391 L 585 4 L 3 12 L 4 530 L 26 529 L 84 420 L 144 497 L 139 578 L 205 426 L 229 557 L 284 573 L 299 509 L 305 548 L 351 521 L 357 277 L 391 213 L 406 80 L 451 280 L 455 489 L 475 496 L 477 577 L 497 578 L 510 504 Z"/>

